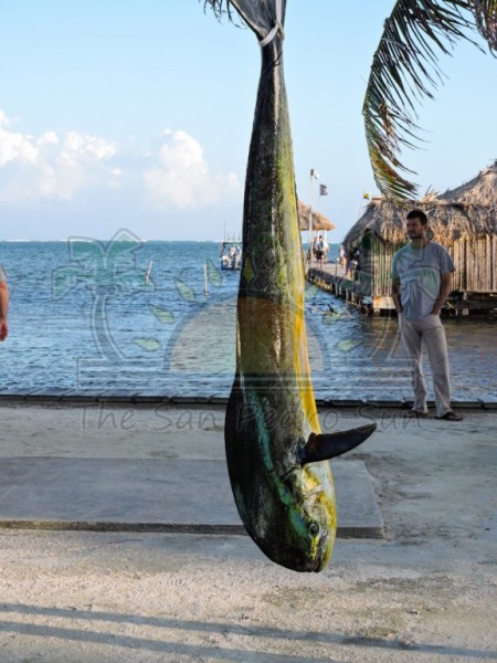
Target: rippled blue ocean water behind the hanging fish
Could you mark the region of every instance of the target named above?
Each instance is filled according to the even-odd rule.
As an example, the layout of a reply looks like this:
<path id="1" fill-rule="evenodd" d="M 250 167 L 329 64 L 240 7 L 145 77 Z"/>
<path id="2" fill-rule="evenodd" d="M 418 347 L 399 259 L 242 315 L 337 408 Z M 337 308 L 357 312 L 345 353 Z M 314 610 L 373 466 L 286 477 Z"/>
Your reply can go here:
<path id="1" fill-rule="evenodd" d="M 219 269 L 219 250 L 128 231 L 108 242 L 0 242 L 11 294 L 0 390 L 226 397 L 240 273 Z M 308 286 L 306 324 L 317 398 L 411 398 L 395 319 Z M 495 322 L 445 327 L 454 400 L 496 402 Z"/>

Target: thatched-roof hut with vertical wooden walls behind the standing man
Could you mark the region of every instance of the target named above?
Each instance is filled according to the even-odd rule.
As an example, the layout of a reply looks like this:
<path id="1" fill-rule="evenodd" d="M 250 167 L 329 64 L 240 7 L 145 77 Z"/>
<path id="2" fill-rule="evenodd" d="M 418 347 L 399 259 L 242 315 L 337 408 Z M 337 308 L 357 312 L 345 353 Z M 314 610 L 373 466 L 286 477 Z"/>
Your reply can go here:
<path id="1" fill-rule="evenodd" d="M 410 207 L 427 214 L 432 239 L 452 254 L 455 290 L 497 291 L 497 161 L 461 187 L 441 196 L 429 191 Z M 383 198 L 373 198 L 343 240 L 346 249 L 363 248 L 372 294 L 390 292 L 391 260 L 406 242 L 405 213 Z"/>

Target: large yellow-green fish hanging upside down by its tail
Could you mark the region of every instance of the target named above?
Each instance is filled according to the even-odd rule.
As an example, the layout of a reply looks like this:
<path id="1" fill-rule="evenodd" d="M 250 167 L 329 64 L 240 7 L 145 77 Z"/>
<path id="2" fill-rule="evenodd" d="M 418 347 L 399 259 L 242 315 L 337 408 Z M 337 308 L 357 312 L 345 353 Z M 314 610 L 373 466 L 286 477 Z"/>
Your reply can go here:
<path id="1" fill-rule="evenodd" d="M 296 571 L 319 571 L 337 528 L 328 460 L 363 442 L 376 424 L 331 434 L 319 430 L 283 75 L 286 0 L 205 4 L 218 14 L 234 7 L 262 52 L 245 181 L 236 373 L 225 419 L 231 486 L 247 533 L 269 559 Z"/>

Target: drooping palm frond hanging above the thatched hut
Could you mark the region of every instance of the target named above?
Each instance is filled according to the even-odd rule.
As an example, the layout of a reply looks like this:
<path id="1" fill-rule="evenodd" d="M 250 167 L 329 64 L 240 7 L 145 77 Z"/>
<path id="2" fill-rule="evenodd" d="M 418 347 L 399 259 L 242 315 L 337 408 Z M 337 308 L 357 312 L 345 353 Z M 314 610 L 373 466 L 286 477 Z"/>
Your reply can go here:
<path id="1" fill-rule="evenodd" d="M 384 22 L 362 114 L 374 179 L 398 204 L 416 194 L 416 186 L 401 172 L 415 173 L 400 155 L 402 147 L 420 141 L 416 105 L 433 98 L 443 80 L 437 55 L 451 54 L 461 39 L 475 43 L 469 36 L 475 28 L 495 49 L 496 8 L 497 0 L 399 0 Z"/>

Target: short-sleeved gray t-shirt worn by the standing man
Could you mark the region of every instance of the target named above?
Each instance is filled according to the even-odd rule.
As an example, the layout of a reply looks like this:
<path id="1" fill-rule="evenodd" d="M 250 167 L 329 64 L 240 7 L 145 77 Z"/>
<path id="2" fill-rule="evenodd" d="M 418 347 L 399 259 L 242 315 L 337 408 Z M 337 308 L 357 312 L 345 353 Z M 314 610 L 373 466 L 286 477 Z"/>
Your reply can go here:
<path id="1" fill-rule="evenodd" d="M 429 242 L 422 249 L 408 244 L 392 261 L 392 278 L 400 280 L 400 295 L 404 316 L 419 320 L 429 315 L 438 297 L 442 274 L 454 272 L 448 251 L 441 244 Z"/>

